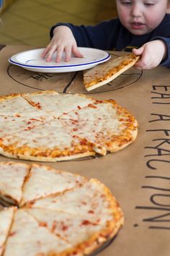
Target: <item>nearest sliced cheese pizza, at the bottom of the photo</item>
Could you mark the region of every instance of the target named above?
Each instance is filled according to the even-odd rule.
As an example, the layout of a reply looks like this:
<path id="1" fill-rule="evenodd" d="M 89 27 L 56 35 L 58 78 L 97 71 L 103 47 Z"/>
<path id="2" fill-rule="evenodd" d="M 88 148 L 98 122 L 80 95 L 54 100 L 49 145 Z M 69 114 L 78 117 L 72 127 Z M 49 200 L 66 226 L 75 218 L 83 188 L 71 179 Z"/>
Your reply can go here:
<path id="1" fill-rule="evenodd" d="M 11 197 L 21 194 L 17 206 L 9 203 L 9 174 L 19 180 L 10 190 Z M 124 223 L 119 203 L 98 179 L 17 162 L 1 162 L 0 184 L 1 178 L 10 207 L 0 211 L 0 256 L 88 255 Z"/>

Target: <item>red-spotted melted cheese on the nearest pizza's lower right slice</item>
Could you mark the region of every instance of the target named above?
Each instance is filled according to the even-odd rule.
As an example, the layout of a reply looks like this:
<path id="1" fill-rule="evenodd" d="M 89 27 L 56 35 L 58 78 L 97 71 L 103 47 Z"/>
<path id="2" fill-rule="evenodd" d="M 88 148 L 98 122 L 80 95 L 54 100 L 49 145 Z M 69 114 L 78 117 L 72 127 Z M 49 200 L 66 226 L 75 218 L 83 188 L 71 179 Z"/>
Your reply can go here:
<path id="1" fill-rule="evenodd" d="M 94 216 L 93 212 L 89 216 L 78 214 L 75 216 L 71 213 L 36 208 L 28 209 L 27 212 L 54 234 L 73 245 L 86 243 L 90 236 L 101 232 L 113 218 L 110 213 L 101 218 L 101 216 Z"/>

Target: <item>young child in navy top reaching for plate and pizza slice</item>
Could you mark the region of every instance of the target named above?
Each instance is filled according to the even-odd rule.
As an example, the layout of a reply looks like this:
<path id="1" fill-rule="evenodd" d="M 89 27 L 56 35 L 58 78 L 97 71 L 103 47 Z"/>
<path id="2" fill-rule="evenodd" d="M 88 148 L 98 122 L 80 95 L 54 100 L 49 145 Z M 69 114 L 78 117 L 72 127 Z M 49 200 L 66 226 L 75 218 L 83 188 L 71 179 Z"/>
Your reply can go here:
<path id="1" fill-rule="evenodd" d="M 95 26 L 58 23 L 50 30 L 52 38 L 42 53 L 50 61 L 57 51 L 56 62 L 63 51 L 66 61 L 71 53 L 82 57 L 78 46 L 105 51 L 133 51 L 140 55 L 137 69 L 153 69 L 159 64 L 170 67 L 169 0 L 117 0 L 118 17 Z"/>

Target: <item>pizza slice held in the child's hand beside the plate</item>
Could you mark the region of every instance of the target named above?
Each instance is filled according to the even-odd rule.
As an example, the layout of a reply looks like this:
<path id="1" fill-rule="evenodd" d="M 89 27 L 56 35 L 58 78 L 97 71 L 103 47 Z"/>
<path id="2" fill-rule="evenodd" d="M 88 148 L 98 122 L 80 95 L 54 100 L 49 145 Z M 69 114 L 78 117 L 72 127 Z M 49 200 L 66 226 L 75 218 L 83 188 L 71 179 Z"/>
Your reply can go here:
<path id="1" fill-rule="evenodd" d="M 110 59 L 92 69 L 84 70 L 84 86 L 86 90 L 94 90 L 114 80 L 122 72 L 133 67 L 139 59 L 140 56 L 129 54 L 117 59 Z"/>

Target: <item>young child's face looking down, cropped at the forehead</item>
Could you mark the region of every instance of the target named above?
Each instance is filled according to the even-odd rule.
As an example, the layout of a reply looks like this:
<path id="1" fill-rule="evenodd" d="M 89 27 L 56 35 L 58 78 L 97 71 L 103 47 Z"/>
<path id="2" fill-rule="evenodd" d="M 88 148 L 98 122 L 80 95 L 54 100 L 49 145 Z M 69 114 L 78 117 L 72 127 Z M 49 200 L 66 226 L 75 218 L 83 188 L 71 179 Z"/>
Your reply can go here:
<path id="1" fill-rule="evenodd" d="M 117 0 L 117 13 L 122 25 L 133 35 L 145 35 L 163 20 L 168 0 Z"/>

